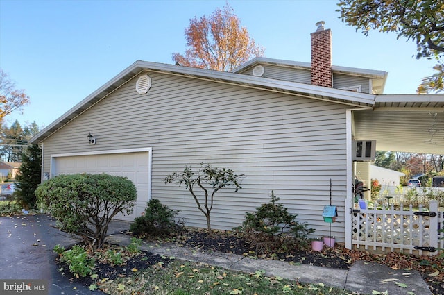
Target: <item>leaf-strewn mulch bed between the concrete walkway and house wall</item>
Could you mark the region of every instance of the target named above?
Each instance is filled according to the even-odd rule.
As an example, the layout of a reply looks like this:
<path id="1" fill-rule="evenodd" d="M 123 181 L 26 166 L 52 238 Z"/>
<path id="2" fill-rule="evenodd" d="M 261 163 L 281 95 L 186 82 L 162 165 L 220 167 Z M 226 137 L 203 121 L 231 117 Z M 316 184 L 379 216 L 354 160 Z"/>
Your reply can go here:
<path id="1" fill-rule="evenodd" d="M 434 295 L 444 295 L 444 257 L 441 255 L 416 257 L 395 252 L 378 255 L 367 251 L 348 250 L 341 244 L 336 244 L 334 248 L 324 246 L 323 251 L 312 251 L 311 248 L 305 247 L 299 250 L 278 251 L 271 255 L 257 255 L 254 247 L 229 232 L 216 231 L 210 236 L 205 230 L 198 229 L 189 229 L 176 235 L 173 237 L 173 242 L 206 251 L 250 255 L 293 264 L 310 264 L 335 269 L 348 269 L 353 262 L 358 260 L 386 264 L 393 269 L 413 269 L 421 273 Z"/>

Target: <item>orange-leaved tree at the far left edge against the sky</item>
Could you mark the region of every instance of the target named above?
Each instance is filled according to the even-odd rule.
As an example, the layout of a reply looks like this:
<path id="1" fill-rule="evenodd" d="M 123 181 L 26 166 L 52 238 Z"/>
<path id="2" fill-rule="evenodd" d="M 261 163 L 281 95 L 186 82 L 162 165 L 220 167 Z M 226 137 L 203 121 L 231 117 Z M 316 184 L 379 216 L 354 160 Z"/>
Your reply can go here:
<path id="1" fill-rule="evenodd" d="M 0 122 L 14 110 L 29 102 L 24 90 L 15 89 L 15 83 L 0 69 Z"/>

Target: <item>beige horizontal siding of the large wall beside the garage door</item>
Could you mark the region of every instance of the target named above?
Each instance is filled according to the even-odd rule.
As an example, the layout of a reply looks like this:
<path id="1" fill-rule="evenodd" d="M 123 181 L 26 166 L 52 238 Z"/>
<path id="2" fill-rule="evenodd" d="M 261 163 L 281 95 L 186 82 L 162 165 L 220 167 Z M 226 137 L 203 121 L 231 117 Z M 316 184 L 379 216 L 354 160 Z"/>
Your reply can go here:
<path id="1" fill-rule="evenodd" d="M 139 95 L 138 77 L 79 115 L 44 142 L 44 171 L 51 154 L 151 147 L 152 196 L 180 209 L 188 226 L 205 227 L 203 214 L 183 187 L 165 185 L 167 174 L 210 162 L 245 174 L 242 189 L 216 194 L 212 227 L 231 229 L 269 200 L 271 190 L 290 212 L 328 235 L 323 222 L 332 178 L 333 205 L 343 240 L 346 194 L 345 106 L 148 72 L 151 89 Z M 91 132 L 97 144 L 90 146 Z"/>

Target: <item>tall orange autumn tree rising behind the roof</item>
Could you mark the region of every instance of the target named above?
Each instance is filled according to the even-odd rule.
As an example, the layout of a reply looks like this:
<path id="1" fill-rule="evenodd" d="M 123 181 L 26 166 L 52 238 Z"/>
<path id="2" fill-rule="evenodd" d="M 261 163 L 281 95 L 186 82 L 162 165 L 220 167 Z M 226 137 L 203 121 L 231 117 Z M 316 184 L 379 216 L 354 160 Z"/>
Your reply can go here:
<path id="1" fill-rule="evenodd" d="M 176 64 L 219 71 L 231 71 L 250 60 L 264 55 L 239 17 L 228 5 L 216 8 L 210 17 L 194 17 L 185 29 L 187 50 L 185 56 L 173 53 Z"/>

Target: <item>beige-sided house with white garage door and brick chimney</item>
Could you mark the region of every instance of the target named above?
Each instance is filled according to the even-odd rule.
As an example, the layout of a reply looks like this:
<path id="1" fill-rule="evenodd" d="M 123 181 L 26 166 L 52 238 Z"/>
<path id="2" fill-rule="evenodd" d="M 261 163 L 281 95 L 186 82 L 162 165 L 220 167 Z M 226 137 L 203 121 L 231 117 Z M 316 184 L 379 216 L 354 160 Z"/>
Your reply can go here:
<path id="1" fill-rule="evenodd" d="M 135 62 L 33 137 L 43 150 L 42 180 L 76 172 L 128 176 L 137 204 L 133 215 L 119 218 L 133 220 L 156 198 L 180 209 L 187 226 L 205 227 L 189 192 L 165 185 L 164 177 L 211 163 L 246 175 L 239 192 L 216 194 L 212 228 L 238 226 L 273 190 L 298 221 L 329 235 L 322 213 L 331 179 L 339 214 L 332 235 L 351 243 L 352 140 L 379 144 L 379 137 L 397 132 L 398 121 L 400 130 L 409 127 L 401 109 L 410 104 L 421 113 L 436 110 L 442 135 L 444 96 L 381 96 L 386 72 L 332 66 L 331 33 L 323 26 L 311 40 L 311 64 L 255 58 L 221 72 Z M 400 116 L 386 121 L 381 115 L 392 107 Z M 430 117 L 421 118 L 416 124 L 429 126 Z M 367 124 L 386 128 L 384 135 Z M 436 137 L 435 149 L 442 149 L 443 137 Z M 425 146 L 421 140 L 415 149 Z M 384 142 L 382 149 L 388 147 Z"/>

